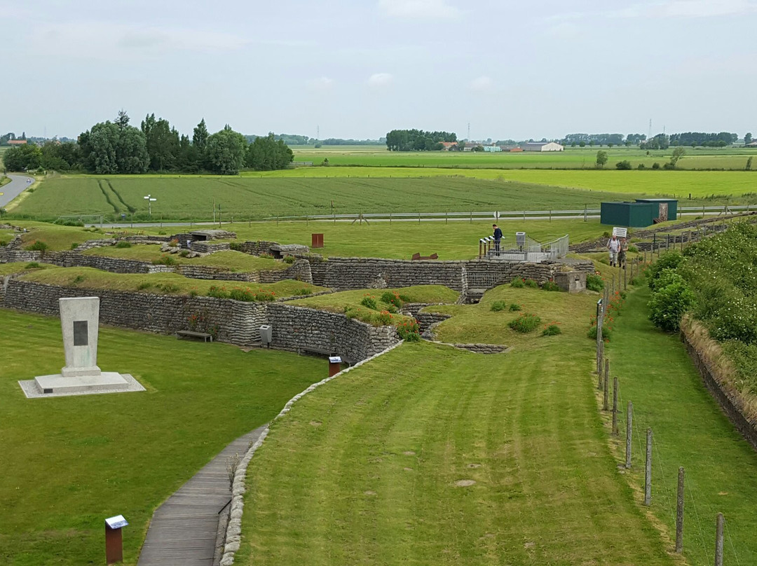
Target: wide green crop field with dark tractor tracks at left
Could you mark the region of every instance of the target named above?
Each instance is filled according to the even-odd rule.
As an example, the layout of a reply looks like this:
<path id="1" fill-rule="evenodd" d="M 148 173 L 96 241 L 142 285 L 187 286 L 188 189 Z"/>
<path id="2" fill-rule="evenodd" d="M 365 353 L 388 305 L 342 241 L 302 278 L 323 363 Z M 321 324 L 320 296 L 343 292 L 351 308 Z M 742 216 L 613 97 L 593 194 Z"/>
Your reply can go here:
<path id="1" fill-rule="evenodd" d="M 553 187 L 472 179 L 465 176 L 418 178 L 388 177 L 400 169 L 381 169 L 378 178 L 370 170 L 308 169 L 344 173 L 337 179 L 266 176 L 188 177 L 118 176 L 95 179 L 88 176 L 62 177 L 43 182 L 33 194 L 12 210 L 15 217 L 56 219 L 59 216 L 104 213 L 120 219 L 149 219 L 143 198 L 148 192 L 152 219 L 212 219 L 213 203 L 220 205 L 223 219 L 262 219 L 269 216 L 304 216 L 331 213 L 469 212 L 481 210 L 575 209 L 596 207 L 600 201 L 631 194 L 556 189 Z M 357 176 L 356 176 L 357 174 Z M 333 204 L 333 208 L 332 208 Z"/>

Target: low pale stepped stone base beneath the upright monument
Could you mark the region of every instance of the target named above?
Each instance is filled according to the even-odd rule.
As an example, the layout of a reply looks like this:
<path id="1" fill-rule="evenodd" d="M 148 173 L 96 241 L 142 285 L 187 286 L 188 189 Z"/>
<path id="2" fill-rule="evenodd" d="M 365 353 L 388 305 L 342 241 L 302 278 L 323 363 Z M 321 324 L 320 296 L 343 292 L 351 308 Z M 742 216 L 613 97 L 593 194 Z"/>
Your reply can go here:
<path id="1" fill-rule="evenodd" d="M 101 372 L 99 375 L 75 377 L 64 377 L 61 374 L 40 375 L 33 380 L 18 383 L 28 398 L 145 390 L 145 387 L 142 387 L 131 375 L 117 372 Z"/>

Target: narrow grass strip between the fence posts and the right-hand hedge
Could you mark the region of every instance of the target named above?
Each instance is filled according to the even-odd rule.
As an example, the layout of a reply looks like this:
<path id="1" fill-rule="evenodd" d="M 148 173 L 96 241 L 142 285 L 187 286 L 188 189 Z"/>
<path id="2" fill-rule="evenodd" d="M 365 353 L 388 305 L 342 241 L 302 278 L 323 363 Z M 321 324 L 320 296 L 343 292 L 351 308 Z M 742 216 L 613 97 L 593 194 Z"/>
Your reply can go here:
<path id="1" fill-rule="evenodd" d="M 757 455 L 709 395 L 675 334 L 647 319 L 650 291 L 628 297 L 606 352 L 625 403 L 634 403 L 633 484 L 643 490 L 643 438 L 653 429 L 655 515 L 674 533 L 678 466 L 686 469 L 684 555 L 690 564 L 714 561 L 715 515 L 726 518 L 725 561 L 754 564 Z M 625 446 L 625 434 L 621 443 Z M 625 448 L 624 448 L 625 449 Z"/>

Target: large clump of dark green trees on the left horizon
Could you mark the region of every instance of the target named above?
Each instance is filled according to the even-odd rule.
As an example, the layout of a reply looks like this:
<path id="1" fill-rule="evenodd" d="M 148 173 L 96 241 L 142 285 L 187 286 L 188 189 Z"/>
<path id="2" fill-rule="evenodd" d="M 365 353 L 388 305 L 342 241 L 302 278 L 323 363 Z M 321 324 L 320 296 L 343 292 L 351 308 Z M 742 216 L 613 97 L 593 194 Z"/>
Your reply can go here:
<path id="1" fill-rule="evenodd" d="M 3 155 L 5 169 L 77 169 L 98 175 L 157 171 L 235 175 L 242 168 L 284 169 L 294 159 L 288 145 L 273 133 L 254 136 L 248 142 L 228 124 L 211 134 L 203 119 L 189 138 L 154 114 L 148 114 L 139 128 L 129 122 L 128 114 L 121 110 L 114 122 L 106 120 L 82 132 L 78 142 L 53 140 L 42 147 L 26 144 L 11 148 Z"/>

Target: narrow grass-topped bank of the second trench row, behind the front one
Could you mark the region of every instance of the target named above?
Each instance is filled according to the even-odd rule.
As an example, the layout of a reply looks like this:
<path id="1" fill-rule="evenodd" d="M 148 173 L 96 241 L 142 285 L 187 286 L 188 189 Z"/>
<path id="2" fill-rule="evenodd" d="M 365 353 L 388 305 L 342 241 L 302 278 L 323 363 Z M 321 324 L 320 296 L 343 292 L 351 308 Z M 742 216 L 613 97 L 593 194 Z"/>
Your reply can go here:
<path id="1" fill-rule="evenodd" d="M 122 260 L 139 260 L 151 263 L 160 262 L 170 257 L 176 263 L 185 266 L 223 267 L 229 272 L 255 272 L 286 269 L 289 265 L 267 257 L 251 256 L 240 251 L 220 251 L 204 257 L 181 257 L 179 253 L 161 253 L 159 245 L 146 244 L 132 247 L 93 247 L 82 252 L 87 256 L 115 257 Z"/>

